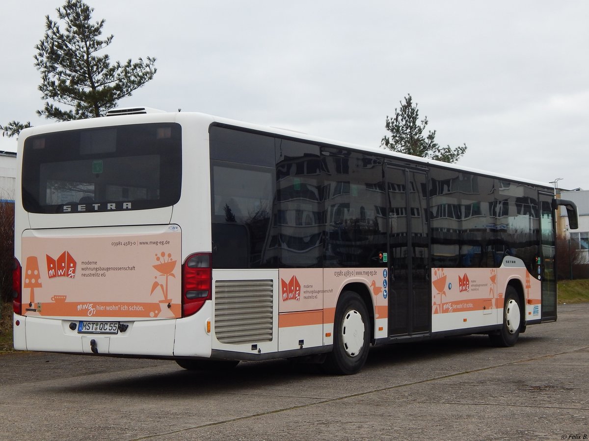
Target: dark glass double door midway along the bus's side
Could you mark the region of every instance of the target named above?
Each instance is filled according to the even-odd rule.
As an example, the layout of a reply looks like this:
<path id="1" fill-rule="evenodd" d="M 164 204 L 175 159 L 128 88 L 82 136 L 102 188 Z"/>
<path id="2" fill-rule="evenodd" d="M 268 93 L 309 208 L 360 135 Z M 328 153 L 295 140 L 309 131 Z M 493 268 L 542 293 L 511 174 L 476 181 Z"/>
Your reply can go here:
<path id="1" fill-rule="evenodd" d="M 386 168 L 388 195 L 389 336 L 431 329 L 427 175 Z"/>

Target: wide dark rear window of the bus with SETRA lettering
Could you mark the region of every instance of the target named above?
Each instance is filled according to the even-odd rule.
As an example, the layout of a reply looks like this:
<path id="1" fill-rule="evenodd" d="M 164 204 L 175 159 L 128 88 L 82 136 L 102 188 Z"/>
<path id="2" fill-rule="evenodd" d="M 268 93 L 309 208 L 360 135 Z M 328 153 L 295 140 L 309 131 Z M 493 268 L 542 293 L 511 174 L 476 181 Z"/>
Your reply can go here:
<path id="1" fill-rule="evenodd" d="M 181 128 L 153 123 L 31 136 L 22 203 L 31 213 L 141 210 L 180 199 Z"/>

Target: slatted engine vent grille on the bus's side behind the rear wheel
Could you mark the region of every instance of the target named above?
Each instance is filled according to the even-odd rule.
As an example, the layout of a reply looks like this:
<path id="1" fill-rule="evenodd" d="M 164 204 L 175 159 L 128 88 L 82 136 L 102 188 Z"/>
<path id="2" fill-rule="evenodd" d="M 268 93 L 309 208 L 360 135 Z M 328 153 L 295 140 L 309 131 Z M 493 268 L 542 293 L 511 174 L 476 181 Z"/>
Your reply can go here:
<path id="1" fill-rule="evenodd" d="M 221 343 L 272 340 L 273 282 L 217 280 L 215 282 L 215 335 Z"/>

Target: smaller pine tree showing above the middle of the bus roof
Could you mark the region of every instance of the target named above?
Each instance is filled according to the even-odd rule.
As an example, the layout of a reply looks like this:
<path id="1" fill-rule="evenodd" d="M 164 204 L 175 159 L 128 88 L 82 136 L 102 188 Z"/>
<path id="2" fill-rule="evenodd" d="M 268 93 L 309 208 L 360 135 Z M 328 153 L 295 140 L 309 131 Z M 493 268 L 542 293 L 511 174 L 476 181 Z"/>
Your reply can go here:
<path id="1" fill-rule="evenodd" d="M 456 162 L 466 152 L 466 144 L 451 148 L 442 147 L 435 142 L 436 131 L 429 131 L 424 136 L 428 125 L 428 118 L 419 121 L 417 103 L 413 105 L 411 95 L 407 95 L 405 103 L 399 102 L 401 108 L 395 109 L 395 116 L 386 116 L 385 128 L 391 132 L 390 136 L 383 136 L 380 145 L 393 152 L 422 158 L 436 159 L 442 162 Z"/>

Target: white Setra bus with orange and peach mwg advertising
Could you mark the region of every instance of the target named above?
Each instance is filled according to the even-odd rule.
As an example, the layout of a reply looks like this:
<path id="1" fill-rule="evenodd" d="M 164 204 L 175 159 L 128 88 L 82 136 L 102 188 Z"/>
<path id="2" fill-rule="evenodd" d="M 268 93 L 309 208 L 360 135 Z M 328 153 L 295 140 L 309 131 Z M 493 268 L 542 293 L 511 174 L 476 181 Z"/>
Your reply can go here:
<path id="1" fill-rule="evenodd" d="M 112 115 L 114 113 L 114 115 Z M 200 113 L 22 131 L 14 346 L 305 358 L 557 318 L 550 185 Z"/>

